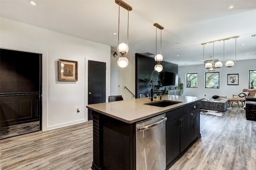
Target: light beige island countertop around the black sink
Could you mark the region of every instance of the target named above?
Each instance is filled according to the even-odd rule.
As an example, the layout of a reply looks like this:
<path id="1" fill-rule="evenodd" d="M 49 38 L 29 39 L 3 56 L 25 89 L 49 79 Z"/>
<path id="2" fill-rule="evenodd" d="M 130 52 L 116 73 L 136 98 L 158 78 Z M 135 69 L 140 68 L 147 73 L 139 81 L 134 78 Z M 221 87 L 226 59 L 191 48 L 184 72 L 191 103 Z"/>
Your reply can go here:
<path id="1" fill-rule="evenodd" d="M 166 113 L 167 111 L 199 102 L 203 99 L 204 98 L 193 96 L 162 95 L 162 100 L 172 100 L 181 103 L 167 107 L 157 107 L 146 105 L 146 103 L 150 103 L 150 99 L 148 98 L 138 98 L 116 102 L 90 104 L 86 107 L 125 123 L 134 123 L 156 115 L 160 115 L 162 113 Z M 160 96 L 157 98 L 157 102 L 158 101 L 160 101 Z"/>

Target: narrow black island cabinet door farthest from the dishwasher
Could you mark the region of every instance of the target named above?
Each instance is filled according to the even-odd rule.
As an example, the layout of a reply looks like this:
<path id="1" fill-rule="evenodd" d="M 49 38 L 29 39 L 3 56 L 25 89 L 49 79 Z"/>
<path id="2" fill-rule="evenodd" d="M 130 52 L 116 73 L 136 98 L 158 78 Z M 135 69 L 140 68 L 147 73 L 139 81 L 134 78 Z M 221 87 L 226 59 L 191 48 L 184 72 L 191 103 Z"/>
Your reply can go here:
<path id="1" fill-rule="evenodd" d="M 200 110 L 190 113 L 190 142 L 194 141 L 200 134 Z"/>

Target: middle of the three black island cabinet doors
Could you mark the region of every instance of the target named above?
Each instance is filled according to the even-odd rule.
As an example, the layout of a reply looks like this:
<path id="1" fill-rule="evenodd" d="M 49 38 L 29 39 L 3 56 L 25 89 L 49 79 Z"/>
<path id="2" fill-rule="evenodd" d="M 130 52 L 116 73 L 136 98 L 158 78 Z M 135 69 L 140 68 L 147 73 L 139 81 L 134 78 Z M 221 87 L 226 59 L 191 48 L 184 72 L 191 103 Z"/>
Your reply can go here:
<path id="1" fill-rule="evenodd" d="M 180 152 L 190 144 L 190 113 L 180 118 Z"/>

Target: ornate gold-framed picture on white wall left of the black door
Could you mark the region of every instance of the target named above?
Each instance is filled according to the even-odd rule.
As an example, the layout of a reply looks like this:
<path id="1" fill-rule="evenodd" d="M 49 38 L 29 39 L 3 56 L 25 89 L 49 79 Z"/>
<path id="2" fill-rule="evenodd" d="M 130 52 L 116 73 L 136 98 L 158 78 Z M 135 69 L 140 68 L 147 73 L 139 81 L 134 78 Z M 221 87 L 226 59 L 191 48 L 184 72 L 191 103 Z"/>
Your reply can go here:
<path id="1" fill-rule="evenodd" d="M 59 59 L 59 81 L 78 81 L 78 61 Z"/>

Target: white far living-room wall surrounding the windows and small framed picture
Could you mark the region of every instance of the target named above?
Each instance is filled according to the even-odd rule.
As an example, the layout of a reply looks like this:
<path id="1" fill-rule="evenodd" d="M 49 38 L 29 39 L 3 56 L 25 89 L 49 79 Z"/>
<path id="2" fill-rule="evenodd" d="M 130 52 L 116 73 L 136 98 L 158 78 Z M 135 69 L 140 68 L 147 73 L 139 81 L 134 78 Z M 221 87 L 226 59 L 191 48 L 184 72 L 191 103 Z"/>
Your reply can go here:
<path id="1" fill-rule="evenodd" d="M 244 88 L 248 88 L 248 70 L 256 69 L 256 59 L 236 61 L 236 65 L 232 68 L 216 69 L 220 72 L 220 88 L 204 88 L 204 74 L 207 72 L 203 65 L 179 66 L 178 75 L 180 82 L 186 84 L 186 73 L 198 73 L 198 88 L 186 88 L 184 86 L 183 96 L 199 96 L 204 98 L 212 98 L 212 96 L 232 97 L 232 94 L 239 94 Z M 227 74 L 239 74 L 238 85 L 227 85 Z M 206 95 L 206 96 L 204 96 Z"/>

